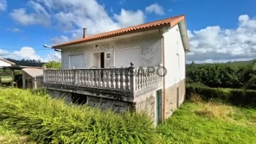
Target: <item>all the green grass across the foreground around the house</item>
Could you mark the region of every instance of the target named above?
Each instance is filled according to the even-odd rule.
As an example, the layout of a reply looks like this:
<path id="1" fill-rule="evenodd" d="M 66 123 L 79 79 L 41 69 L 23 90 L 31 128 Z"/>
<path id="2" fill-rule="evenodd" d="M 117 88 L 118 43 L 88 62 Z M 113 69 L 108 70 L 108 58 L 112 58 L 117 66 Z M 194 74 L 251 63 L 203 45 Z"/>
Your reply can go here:
<path id="1" fill-rule="evenodd" d="M 142 114 L 66 105 L 36 92 L 0 91 L 0 143 L 255 143 L 256 109 L 194 95 L 160 126 Z"/>

